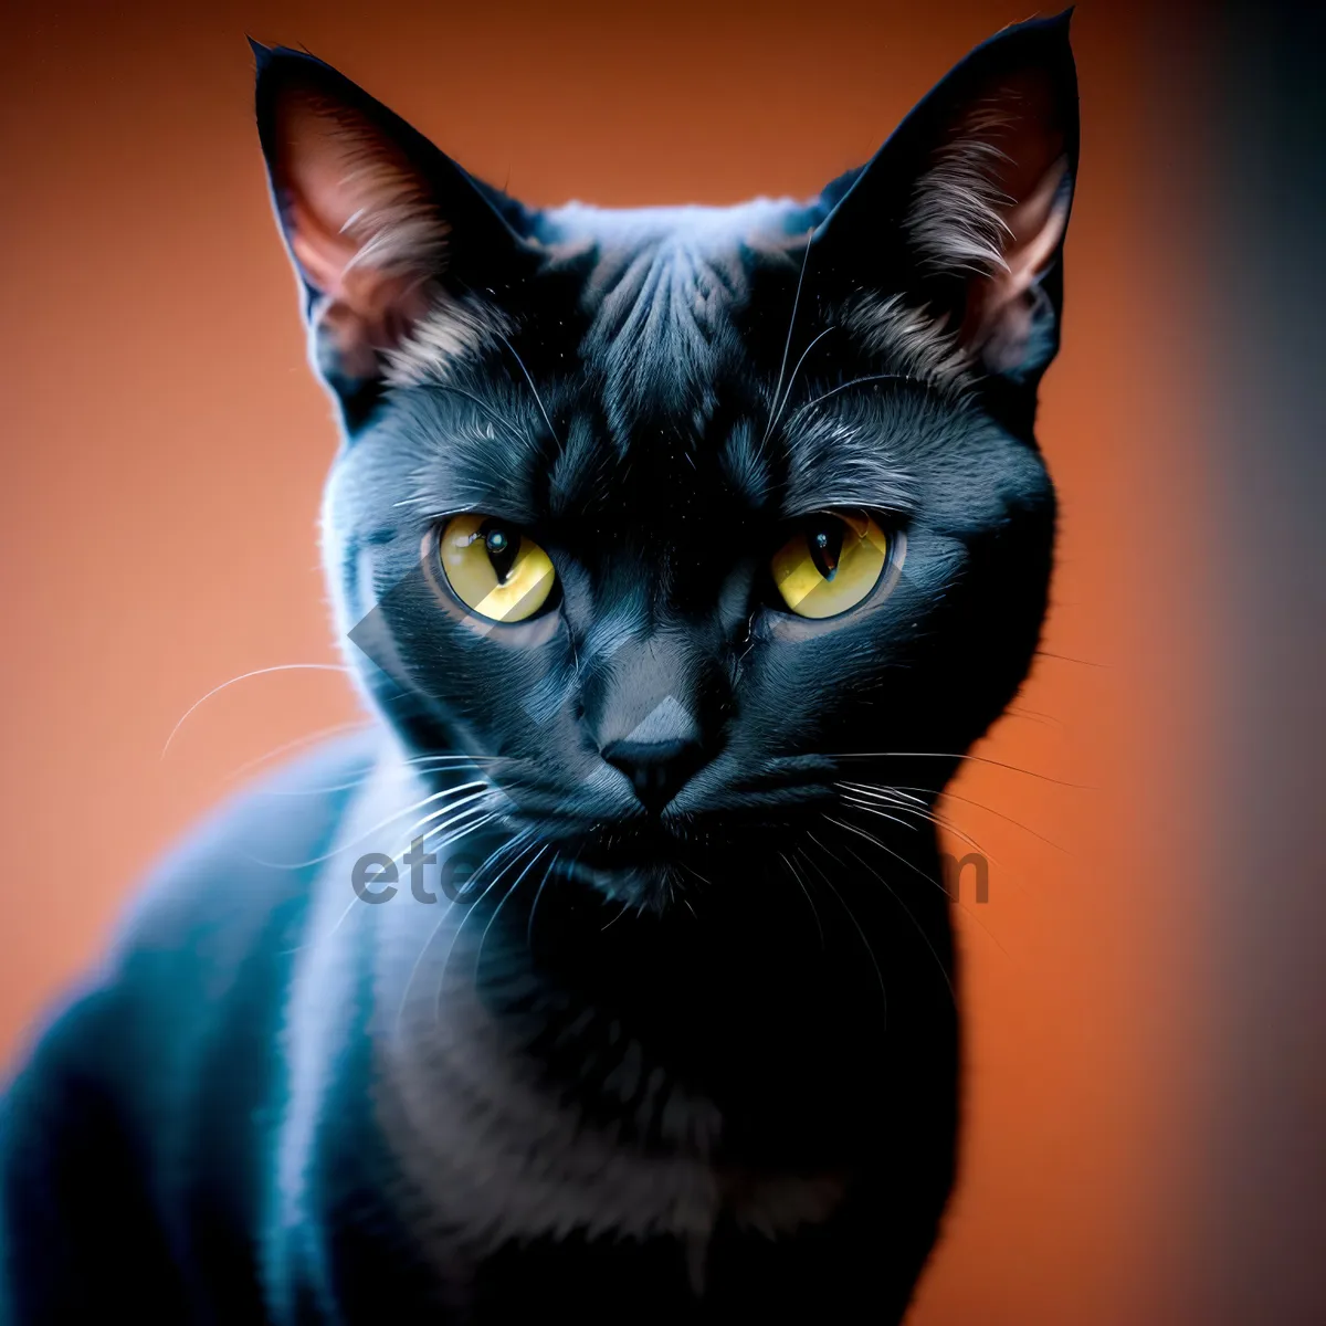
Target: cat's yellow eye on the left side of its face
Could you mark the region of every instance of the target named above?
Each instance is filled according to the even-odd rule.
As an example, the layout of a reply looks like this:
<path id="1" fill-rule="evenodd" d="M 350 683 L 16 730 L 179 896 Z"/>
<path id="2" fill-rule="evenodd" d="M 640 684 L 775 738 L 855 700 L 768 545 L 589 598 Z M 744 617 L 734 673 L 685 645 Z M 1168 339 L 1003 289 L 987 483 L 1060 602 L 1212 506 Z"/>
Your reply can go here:
<path id="1" fill-rule="evenodd" d="M 557 572 L 538 544 L 492 516 L 452 516 L 439 540 L 442 569 L 467 607 L 495 622 L 524 622 L 548 602 Z"/>

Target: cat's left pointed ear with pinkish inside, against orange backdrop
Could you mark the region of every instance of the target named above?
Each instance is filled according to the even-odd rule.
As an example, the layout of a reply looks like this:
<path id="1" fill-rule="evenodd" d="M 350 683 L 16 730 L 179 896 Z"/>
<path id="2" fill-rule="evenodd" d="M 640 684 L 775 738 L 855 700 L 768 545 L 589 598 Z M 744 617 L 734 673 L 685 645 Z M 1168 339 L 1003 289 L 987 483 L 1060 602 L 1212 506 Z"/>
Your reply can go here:
<path id="1" fill-rule="evenodd" d="M 500 195 L 350 80 L 304 52 L 251 45 L 310 358 L 353 420 L 420 330 L 446 354 L 501 329 L 524 241 Z"/>

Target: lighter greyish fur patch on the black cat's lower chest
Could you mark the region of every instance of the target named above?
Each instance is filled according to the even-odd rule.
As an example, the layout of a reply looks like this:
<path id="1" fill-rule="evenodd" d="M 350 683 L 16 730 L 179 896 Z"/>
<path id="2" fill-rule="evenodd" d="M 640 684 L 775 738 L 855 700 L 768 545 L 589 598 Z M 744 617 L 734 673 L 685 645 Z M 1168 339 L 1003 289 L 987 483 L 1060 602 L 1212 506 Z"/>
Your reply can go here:
<path id="1" fill-rule="evenodd" d="M 457 1245 L 483 1257 L 572 1235 L 667 1237 L 686 1245 L 695 1278 L 720 1221 L 776 1238 L 829 1219 L 843 1199 L 843 1175 L 724 1164 L 712 1102 L 647 1062 L 625 1083 L 634 1103 L 623 1101 L 613 1123 L 595 1122 L 513 1057 L 477 1012 L 447 1014 L 432 1053 L 383 1069 L 377 1098 L 411 1225 L 444 1257 Z M 648 1147 L 635 1140 L 646 1113 Z"/>

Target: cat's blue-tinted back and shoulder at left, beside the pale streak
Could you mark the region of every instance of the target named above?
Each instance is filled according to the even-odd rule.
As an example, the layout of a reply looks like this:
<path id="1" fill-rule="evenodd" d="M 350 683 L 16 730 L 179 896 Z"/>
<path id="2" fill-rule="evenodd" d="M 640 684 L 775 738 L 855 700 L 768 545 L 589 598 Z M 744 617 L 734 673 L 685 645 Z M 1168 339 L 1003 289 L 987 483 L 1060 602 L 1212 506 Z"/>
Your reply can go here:
<path id="1" fill-rule="evenodd" d="M 145 1286 L 168 1298 L 172 1264 L 190 1261 L 235 1297 L 225 1319 L 257 1319 L 243 1229 L 261 1209 L 281 1111 L 278 1030 L 317 878 L 306 863 L 334 841 L 375 761 L 371 741 L 339 743 L 223 802 L 166 854 L 102 961 L 36 1025 L 0 1094 L 0 1262 L 20 1248 L 50 1281 L 32 1293 L 61 1303 L 82 1293 L 56 1284 L 61 1257 L 77 1253 L 133 1280 L 135 1299 Z M 232 1224 L 195 1225 L 195 1211 Z M 180 1240 L 168 1256 L 154 1233 L 167 1224 Z M 184 1313 L 171 1301 L 147 1315 Z"/>

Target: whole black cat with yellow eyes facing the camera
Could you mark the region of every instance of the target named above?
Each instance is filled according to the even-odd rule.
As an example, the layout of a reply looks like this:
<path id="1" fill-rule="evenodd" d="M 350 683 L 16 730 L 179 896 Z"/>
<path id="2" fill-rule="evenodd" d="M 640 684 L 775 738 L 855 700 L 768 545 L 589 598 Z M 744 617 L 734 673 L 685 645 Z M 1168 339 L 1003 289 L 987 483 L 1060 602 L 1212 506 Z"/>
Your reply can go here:
<path id="1" fill-rule="evenodd" d="M 5 1319 L 898 1322 L 957 1164 L 932 808 L 1053 561 L 1069 15 L 731 208 L 525 207 L 255 52 L 374 723 L 36 1037 Z"/>

